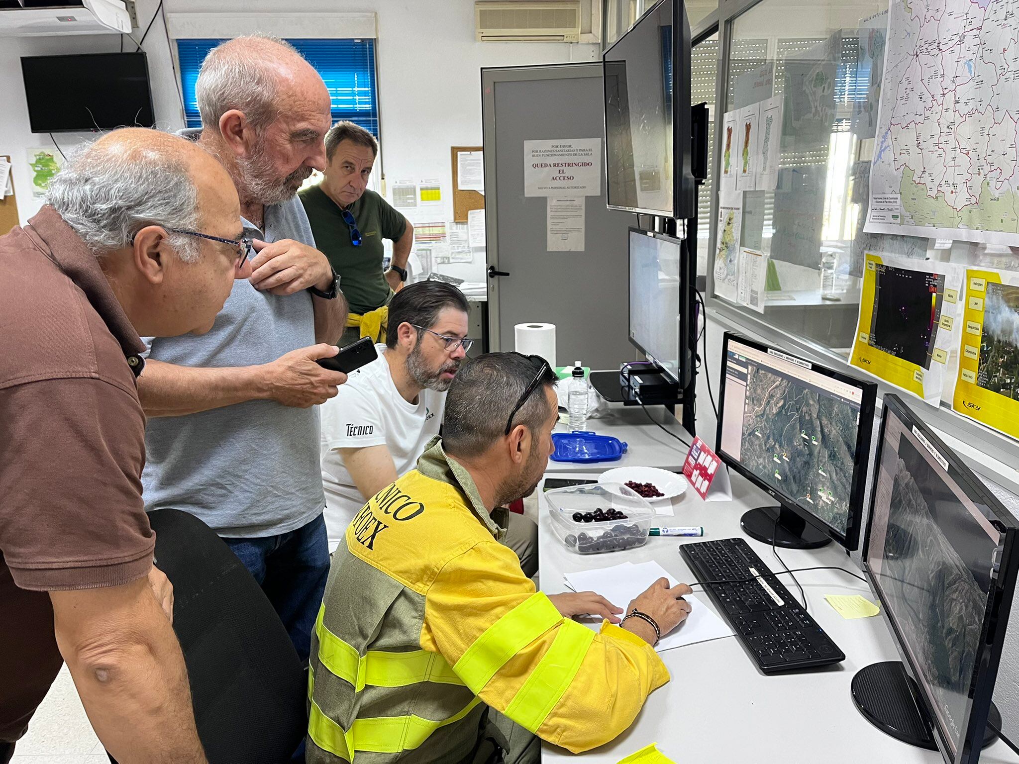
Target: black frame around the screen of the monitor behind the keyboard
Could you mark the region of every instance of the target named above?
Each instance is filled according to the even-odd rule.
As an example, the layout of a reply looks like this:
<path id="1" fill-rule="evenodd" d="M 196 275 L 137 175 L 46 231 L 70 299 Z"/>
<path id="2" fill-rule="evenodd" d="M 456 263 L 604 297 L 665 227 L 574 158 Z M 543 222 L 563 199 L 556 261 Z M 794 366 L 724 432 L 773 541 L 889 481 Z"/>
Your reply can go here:
<path id="1" fill-rule="evenodd" d="M 860 424 L 856 431 L 856 460 L 853 462 L 853 482 L 850 487 L 849 497 L 849 517 L 846 522 L 845 533 L 837 528 L 833 528 L 827 523 L 811 513 L 809 510 L 801 507 L 794 498 L 762 481 L 745 468 L 738 458 L 726 453 L 722 449 L 721 428 L 722 423 L 725 422 L 726 367 L 729 363 L 730 339 L 749 345 L 750 347 L 760 350 L 761 352 L 774 350 L 775 352 L 781 352 L 783 356 L 797 359 L 798 361 L 803 361 L 804 363 L 809 363 L 810 371 L 861 389 Z M 838 372 L 835 369 L 828 369 L 827 367 L 819 364 L 807 362 L 805 359 L 799 359 L 793 353 L 786 352 L 777 347 L 771 347 L 770 345 L 766 345 L 761 342 L 756 342 L 741 334 L 737 334 L 736 332 L 726 332 L 721 340 L 721 369 L 718 379 L 718 421 L 715 433 L 715 452 L 730 468 L 749 480 L 762 491 L 766 492 L 769 496 L 776 499 L 784 507 L 795 512 L 798 517 L 803 519 L 803 521 L 808 523 L 811 527 L 816 528 L 821 533 L 829 536 L 849 551 L 854 551 L 859 547 L 860 543 L 860 527 L 863 520 L 863 502 L 866 495 L 868 474 L 867 462 L 870 455 L 870 436 L 873 429 L 874 406 L 876 405 L 876 399 L 877 385 L 873 382 L 867 382 L 849 374 Z"/>

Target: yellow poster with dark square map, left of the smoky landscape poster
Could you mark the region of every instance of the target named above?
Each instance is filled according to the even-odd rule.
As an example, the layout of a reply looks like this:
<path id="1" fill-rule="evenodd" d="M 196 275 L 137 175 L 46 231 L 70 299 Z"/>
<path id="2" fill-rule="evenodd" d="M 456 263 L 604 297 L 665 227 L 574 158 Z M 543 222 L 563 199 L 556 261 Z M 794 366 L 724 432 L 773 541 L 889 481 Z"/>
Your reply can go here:
<path id="1" fill-rule="evenodd" d="M 937 405 L 961 287 L 958 267 L 867 253 L 850 364 Z"/>

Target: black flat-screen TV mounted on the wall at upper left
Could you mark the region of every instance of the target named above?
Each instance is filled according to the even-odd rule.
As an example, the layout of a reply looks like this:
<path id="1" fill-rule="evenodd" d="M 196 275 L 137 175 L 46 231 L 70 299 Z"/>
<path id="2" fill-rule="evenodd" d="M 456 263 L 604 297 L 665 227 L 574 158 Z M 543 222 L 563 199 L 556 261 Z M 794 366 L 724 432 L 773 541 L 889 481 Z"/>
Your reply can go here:
<path id="1" fill-rule="evenodd" d="M 33 132 L 151 127 L 156 121 L 145 53 L 21 58 Z"/>

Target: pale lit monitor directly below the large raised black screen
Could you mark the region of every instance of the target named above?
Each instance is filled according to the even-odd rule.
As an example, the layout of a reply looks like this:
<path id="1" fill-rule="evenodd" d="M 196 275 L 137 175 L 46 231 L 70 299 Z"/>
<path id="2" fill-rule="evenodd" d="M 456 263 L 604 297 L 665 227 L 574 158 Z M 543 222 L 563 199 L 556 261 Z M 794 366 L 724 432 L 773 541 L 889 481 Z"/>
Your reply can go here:
<path id="1" fill-rule="evenodd" d="M 630 229 L 630 344 L 682 386 L 681 248 L 678 238 Z"/>

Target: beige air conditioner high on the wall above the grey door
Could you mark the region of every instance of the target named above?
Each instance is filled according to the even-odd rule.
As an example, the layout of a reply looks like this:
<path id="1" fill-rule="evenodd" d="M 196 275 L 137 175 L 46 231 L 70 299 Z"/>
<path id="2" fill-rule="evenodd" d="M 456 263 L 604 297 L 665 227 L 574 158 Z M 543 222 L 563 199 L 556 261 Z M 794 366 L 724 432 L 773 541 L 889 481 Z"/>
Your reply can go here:
<path id="1" fill-rule="evenodd" d="M 580 0 L 477 0 L 474 22 L 479 43 L 578 43 Z"/>

